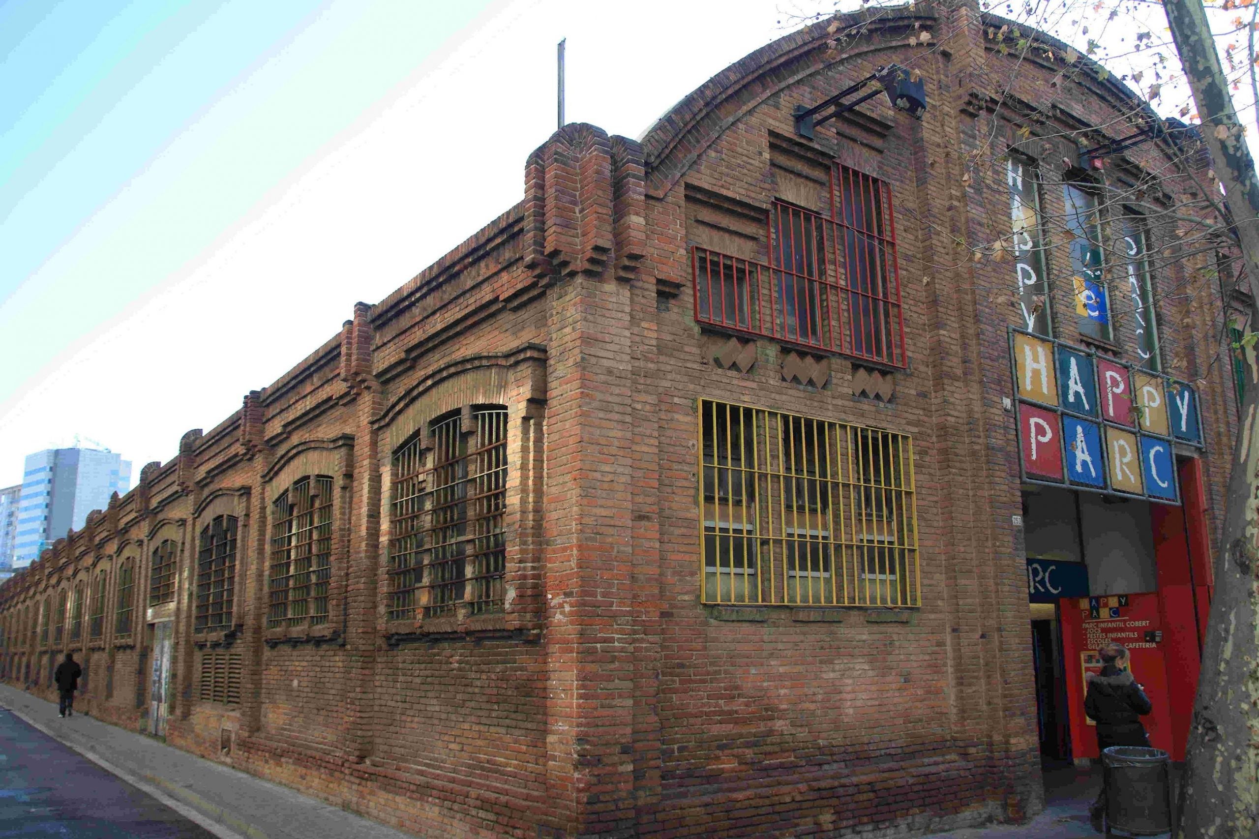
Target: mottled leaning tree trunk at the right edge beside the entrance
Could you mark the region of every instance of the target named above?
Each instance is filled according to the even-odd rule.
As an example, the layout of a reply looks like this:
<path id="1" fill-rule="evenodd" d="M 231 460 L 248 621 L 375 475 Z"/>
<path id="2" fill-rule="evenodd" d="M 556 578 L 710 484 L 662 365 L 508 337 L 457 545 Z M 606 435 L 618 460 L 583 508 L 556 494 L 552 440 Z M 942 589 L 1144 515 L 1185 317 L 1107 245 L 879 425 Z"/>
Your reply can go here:
<path id="1" fill-rule="evenodd" d="M 1167 0 L 1167 21 L 1224 185 L 1250 294 L 1259 300 L 1259 180 L 1233 110 L 1201 0 Z M 1259 316 L 1251 311 L 1251 329 Z M 1246 348 L 1246 393 L 1215 563 L 1181 787 L 1177 836 L 1259 836 L 1259 364 Z"/>

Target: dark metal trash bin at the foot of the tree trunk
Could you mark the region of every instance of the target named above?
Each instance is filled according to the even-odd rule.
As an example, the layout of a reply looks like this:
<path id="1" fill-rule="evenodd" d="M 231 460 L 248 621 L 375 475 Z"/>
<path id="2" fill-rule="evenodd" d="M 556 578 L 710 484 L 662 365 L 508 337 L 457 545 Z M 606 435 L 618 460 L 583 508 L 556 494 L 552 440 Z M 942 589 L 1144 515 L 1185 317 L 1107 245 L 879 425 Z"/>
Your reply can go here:
<path id="1" fill-rule="evenodd" d="M 1112 746 L 1102 752 L 1107 831 L 1153 836 L 1172 829 L 1171 761 L 1161 748 Z"/>

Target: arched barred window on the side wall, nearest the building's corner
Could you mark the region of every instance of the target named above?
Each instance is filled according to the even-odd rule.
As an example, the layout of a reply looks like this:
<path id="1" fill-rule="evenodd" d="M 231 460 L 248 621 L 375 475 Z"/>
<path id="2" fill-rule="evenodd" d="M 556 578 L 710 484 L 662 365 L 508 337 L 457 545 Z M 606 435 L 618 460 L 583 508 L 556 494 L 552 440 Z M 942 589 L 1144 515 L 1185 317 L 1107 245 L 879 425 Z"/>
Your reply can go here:
<path id="1" fill-rule="evenodd" d="M 486 407 L 436 421 L 394 455 L 389 619 L 502 610 L 507 412 Z M 426 465 L 424 460 L 429 464 Z M 417 598 L 419 602 L 417 602 Z"/>

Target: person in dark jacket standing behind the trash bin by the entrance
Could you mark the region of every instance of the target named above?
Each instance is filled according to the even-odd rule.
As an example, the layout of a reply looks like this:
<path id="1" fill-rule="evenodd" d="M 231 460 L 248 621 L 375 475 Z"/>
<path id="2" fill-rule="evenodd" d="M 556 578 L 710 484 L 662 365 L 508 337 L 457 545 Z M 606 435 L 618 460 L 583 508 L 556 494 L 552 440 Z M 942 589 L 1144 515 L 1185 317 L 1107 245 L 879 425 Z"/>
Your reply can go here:
<path id="1" fill-rule="evenodd" d="M 1112 746 L 1149 746 L 1149 737 L 1141 718 L 1153 707 L 1142 685 L 1132 678 L 1128 670 L 1128 650 L 1122 644 L 1104 645 L 1098 650 L 1102 656 L 1102 673 L 1088 675 L 1088 693 L 1084 697 L 1084 712 L 1098 729 L 1098 752 Z M 1089 821 L 1098 831 L 1104 829 L 1105 784 L 1097 800 L 1089 808 Z"/>

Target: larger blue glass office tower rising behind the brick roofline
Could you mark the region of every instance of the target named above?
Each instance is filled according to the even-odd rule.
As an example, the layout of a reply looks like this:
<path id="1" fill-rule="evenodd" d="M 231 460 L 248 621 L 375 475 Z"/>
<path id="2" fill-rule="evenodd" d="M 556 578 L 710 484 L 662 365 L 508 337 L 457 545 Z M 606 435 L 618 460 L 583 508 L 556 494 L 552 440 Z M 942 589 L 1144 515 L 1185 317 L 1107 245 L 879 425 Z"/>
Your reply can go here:
<path id="1" fill-rule="evenodd" d="M 131 461 L 94 448 L 48 448 L 26 457 L 18 503 L 14 567 L 30 564 L 69 529 L 79 529 L 110 495 L 131 489 Z"/>

